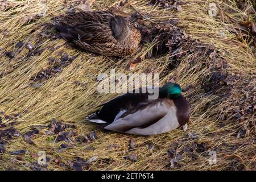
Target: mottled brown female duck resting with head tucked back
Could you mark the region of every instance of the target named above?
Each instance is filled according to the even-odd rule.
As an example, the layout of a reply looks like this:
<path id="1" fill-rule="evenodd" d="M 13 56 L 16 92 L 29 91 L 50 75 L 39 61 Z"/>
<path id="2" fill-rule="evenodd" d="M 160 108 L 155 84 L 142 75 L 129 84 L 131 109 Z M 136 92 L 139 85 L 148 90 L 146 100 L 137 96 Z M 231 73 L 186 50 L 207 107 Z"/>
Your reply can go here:
<path id="1" fill-rule="evenodd" d="M 129 55 L 141 42 L 141 33 L 112 11 L 66 14 L 56 18 L 54 26 L 64 39 L 105 56 Z"/>

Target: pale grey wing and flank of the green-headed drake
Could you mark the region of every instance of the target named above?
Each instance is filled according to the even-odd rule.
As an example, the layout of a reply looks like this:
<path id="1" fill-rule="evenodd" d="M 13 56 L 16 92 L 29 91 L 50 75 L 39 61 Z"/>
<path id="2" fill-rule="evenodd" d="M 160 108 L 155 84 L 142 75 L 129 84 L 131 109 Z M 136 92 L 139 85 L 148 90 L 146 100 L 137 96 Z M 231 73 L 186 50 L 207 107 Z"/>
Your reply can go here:
<path id="1" fill-rule="evenodd" d="M 105 129 L 136 135 L 154 135 L 179 126 L 174 102 L 164 98 L 117 114 Z"/>

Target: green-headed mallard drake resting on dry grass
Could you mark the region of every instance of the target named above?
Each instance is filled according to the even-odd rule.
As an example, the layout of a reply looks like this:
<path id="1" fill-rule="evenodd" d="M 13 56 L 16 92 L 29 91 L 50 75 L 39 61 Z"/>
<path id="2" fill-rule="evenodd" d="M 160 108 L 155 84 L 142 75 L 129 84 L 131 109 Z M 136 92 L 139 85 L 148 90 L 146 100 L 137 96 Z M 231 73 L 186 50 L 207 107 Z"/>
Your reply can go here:
<path id="1" fill-rule="evenodd" d="M 167 133 L 185 125 L 191 109 L 178 84 L 168 82 L 159 88 L 159 97 L 148 100 L 148 93 L 127 93 L 101 105 L 87 117 L 105 123 L 104 129 L 134 135 Z"/>

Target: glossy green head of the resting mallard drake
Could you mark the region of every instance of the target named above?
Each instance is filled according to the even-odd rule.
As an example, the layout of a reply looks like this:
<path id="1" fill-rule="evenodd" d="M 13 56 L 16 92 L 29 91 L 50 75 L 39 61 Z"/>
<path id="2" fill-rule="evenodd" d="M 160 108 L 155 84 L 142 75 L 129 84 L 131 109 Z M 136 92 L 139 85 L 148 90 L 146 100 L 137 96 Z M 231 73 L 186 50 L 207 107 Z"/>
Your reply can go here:
<path id="1" fill-rule="evenodd" d="M 168 97 L 173 99 L 179 98 L 181 94 L 180 85 L 175 84 L 174 82 L 168 82 L 160 89 L 160 97 Z"/>

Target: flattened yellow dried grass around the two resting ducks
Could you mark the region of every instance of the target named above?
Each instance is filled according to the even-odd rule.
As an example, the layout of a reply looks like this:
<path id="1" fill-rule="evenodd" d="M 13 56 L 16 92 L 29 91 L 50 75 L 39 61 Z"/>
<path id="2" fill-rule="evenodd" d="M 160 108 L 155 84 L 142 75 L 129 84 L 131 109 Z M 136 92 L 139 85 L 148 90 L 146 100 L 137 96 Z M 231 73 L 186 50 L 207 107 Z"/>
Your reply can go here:
<path id="1" fill-rule="evenodd" d="M 137 53 L 130 57 L 114 61 L 111 57 L 92 56 L 90 53 L 67 46 L 68 43 L 62 39 L 44 38 L 42 47 L 46 47 L 46 51 L 42 55 L 26 57 L 27 49 L 22 49 L 20 53 L 11 59 L 4 56 L 6 51 L 16 50 L 15 44 L 19 40 L 24 43 L 31 42 L 35 44 L 38 41 L 40 31 L 45 23 L 59 14 L 67 10 L 64 1 L 46 1 L 46 15 L 36 17 L 36 14 L 42 13 L 38 1 L 12 1 L 14 7 L 8 11 L 0 12 L 0 72 L 5 75 L 0 78 L 0 111 L 6 114 L 22 113 L 22 117 L 18 118 L 16 129 L 24 134 L 30 131 L 32 125 L 47 125 L 52 118 L 58 121 L 76 125 L 79 135 L 88 134 L 95 130 L 95 125 L 84 122 L 87 114 L 94 111 L 94 107 L 108 101 L 116 94 L 100 95 L 97 93 L 96 78 L 100 73 L 109 73 L 110 68 L 121 73 L 146 72 L 148 69 L 154 70 L 155 73 L 161 73 L 168 70 L 168 55 L 158 59 L 146 59 L 132 71 L 126 70 L 127 61 L 135 59 Z M 106 7 L 114 7 L 121 1 L 96 1 L 102 9 Z M 250 40 L 240 42 L 237 35 L 234 35 L 225 29 L 226 26 L 232 26 L 231 23 L 224 22 L 221 15 L 212 18 L 208 15 L 207 9 L 210 2 L 218 3 L 225 11 L 230 10 L 229 15 L 241 20 L 245 14 L 241 12 L 236 3 L 233 1 L 192 1 L 184 0 L 182 11 L 177 14 L 180 19 L 180 26 L 187 25 L 186 33 L 192 38 L 200 39 L 206 44 L 213 44 L 222 54 L 222 58 L 229 64 L 229 73 L 240 73 L 245 78 L 251 78 L 250 73 L 256 72 L 255 57 L 253 51 L 248 45 Z M 68 1 L 72 3 L 72 1 Z M 140 0 L 129 1 L 137 10 L 143 14 L 150 15 L 152 22 L 163 22 L 170 20 L 176 15 L 174 11 L 161 9 L 158 5 L 148 6 L 148 1 Z M 93 7 L 96 10 L 96 7 Z M 133 13 L 134 10 L 129 6 L 124 6 L 123 11 Z M 232 13 L 231 13 L 232 11 Z M 32 18 L 31 18 L 32 17 Z M 32 19 L 31 22 L 30 18 Z M 31 30 L 35 29 L 31 33 Z M 54 29 L 52 28 L 52 31 Z M 220 31 L 224 32 L 225 38 L 220 36 Z M 61 46 L 63 45 L 64 46 Z M 55 51 L 49 48 L 57 47 Z M 150 48 L 150 45 L 148 45 Z M 71 56 L 77 58 L 63 69 L 56 76 L 49 78 L 39 88 L 28 85 L 30 78 L 35 76 L 40 70 L 48 67 L 48 58 L 57 57 L 60 51 L 67 52 Z M 143 55 L 147 51 L 144 47 L 138 55 Z M 184 57 L 183 60 L 189 59 Z M 200 58 L 199 58 L 200 59 Z M 200 61 L 204 58 L 200 59 Z M 255 143 L 250 134 L 245 138 L 237 138 L 237 125 L 241 123 L 232 123 L 224 127 L 218 127 L 218 118 L 216 115 L 222 115 L 229 109 L 225 109 L 229 102 L 222 102 L 204 110 L 204 106 L 208 102 L 216 100 L 218 96 L 214 94 L 204 94 L 200 88 L 201 78 L 208 74 L 208 69 L 203 65 L 195 65 L 189 70 L 185 69 L 187 64 L 181 64 L 173 71 L 169 71 L 164 77 L 160 78 L 160 84 L 172 78 L 177 77 L 177 82 L 182 86 L 196 86 L 189 94 L 195 94 L 195 101 L 192 102 L 192 115 L 188 123 L 188 130 L 183 131 L 177 129 L 171 133 L 152 136 L 137 137 L 119 133 L 104 133 L 97 130 L 98 139 L 95 142 L 85 146 L 75 144 L 75 147 L 58 153 L 60 143 L 49 143 L 48 136 L 39 133 L 33 139 L 34 145 L 26 143 L 22 137 L 10 140 L 6 154 L 2 154 L 0 169 L 14 168 L 21 170 L 30 170 L 26 167 L 26 163 L 36 162 L 31 154 L 37 154 L 39 151 L 46 151 L 47 156 L 55 159 L 57 156 L 61 158 L 61 162 L 68 165 L 68 161 L 80 158 L 89 159 L 98 156 L 89 167 L 90 170 L 170 170 L 170 158 L 168 156 L 168 148 L 172 143 L 177 143 L 177 151 L 180 152 L 184 146 L 191 146 L 194 142 L 207 143 L 210 148 L 218 148 L 217 164 L 209 166 L 208 153 L 206 155 L 196 155 L 196 159 L 192 159 L 189 155 L 183 155 L 179 167 L 176 170 L 209 170 L 209 169 L 228 169 L 234 161 L 238 161 L 243 169 L 255 170 Z M 184 61 L 185 63 L 185 61 Z M 86 86 L 77 86 L 74 81 L 86 83 Z M 255 86 L 255 82 L 254 82 Z M 190 92 L 190 91 L 189 91 Z M 252 90 L 253 92 L 253 90 Z M 185 96 L 188 93 L 185 93 Z M 232 105 L 228 105 L 228 108 Z M 253 118 L 247 118 L 246 122 L 251 122 Z M 255 130 L 255 129 L 254 129 Z M 196 133 L 197 138 L 188 137 L 188 133 Z M 56 137 L 56 136 L 55 136 Z M 134 151 L 129 150 L 129 140 L 133 138 L 139 146 Z M 73 139 L 73 138 L 72 138 Z M 225 142 L 228 146 L 224 146 Z M 148 149 L 147 143 L 152 143 L 153 147 Z M 110 144 L 118 144 L 117 149 L 106 149 Z M 91 151 L 86 147 L 95 147 L 96 150 Z M 237 146 L 236 149 L 230 146 Z M 28 152 L 18 160 L 14 155 L 10 155 L 8 151 L 26 149 Z M 129 154 L 137 154 L 138 161 L 132 163 L 125 156 Z M 47 169 L 67 170 L 67 166 L 58 166 L 54 161 L 49 162 Z"/>

